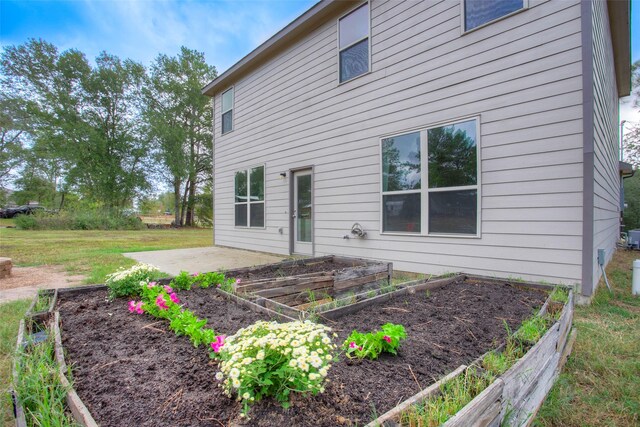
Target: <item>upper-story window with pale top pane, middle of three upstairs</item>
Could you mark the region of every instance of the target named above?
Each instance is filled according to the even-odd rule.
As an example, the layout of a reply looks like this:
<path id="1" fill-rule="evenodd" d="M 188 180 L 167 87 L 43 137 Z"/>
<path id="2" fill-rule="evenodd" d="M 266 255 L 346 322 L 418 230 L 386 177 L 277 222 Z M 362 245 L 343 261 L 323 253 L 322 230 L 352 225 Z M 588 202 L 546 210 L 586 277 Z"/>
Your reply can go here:
<path id="1" fill-rule="evenodd" d="M 369 72 L 369 3 L 338 20 L 340 83 Z"/>

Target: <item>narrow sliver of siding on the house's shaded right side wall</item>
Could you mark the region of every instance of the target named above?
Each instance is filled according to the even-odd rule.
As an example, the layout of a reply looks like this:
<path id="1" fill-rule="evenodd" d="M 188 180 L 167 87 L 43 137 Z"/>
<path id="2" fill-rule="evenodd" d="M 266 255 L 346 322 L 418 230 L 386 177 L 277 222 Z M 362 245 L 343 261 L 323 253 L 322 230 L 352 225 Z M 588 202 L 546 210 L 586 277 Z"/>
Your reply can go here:
<path id="1" fill-rule="evenodd" d="M 602 275 L 598 249 L 611 259 L 620 233 L 618 96 L 605 2 L 593 2 L 593 288 Z"/>

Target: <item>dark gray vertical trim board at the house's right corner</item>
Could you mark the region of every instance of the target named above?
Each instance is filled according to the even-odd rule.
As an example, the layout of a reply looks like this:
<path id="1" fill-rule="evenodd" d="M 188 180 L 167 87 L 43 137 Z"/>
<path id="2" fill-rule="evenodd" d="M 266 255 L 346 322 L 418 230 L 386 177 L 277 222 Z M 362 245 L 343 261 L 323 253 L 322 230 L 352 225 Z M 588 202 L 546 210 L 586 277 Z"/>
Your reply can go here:
<path id="1" fill-rule="evenodd" d="M 593 21 L 589 0 L 581 1 L 582 27 L 582 287 L 580 293 L 593 295 Z"/>

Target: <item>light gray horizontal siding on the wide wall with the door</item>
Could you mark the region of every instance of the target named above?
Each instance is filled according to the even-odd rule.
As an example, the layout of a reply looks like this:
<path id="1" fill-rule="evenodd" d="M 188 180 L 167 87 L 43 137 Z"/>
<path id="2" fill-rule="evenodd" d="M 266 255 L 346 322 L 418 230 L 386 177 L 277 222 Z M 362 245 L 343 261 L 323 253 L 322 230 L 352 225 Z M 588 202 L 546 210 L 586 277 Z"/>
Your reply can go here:
<path id="1" fill-rule="evenodd" d="M 337 84 L 332 19 L 235 82 L 235 128 L 224 136 L 215 99 L 216 243 L 287 254 L 289 188 L 279 174 L 313 165 L 318 255 L 579 281 L 580 5 L 530 3 L 461 35 L 457 0 L 373 0 L 371 73 Z M 475 115 L 481 238 L 380 234 L 380 137 Z M 262 163 L 266 227 L 235 228 L 233 174 Z M 367 239 L 343 239 L 354 222 Z"/>

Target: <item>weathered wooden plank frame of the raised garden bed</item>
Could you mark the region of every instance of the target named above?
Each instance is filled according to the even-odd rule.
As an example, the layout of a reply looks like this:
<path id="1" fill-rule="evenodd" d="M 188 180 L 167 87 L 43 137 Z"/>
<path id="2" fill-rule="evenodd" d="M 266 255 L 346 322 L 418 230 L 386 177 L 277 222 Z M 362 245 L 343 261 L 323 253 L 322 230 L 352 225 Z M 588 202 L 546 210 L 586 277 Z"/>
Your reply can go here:
<path id="1" fill-rule="evenodd" d="M 316 262 L 324 262 L 333 257 L 321 257 L 312 258 Z M 339 259 L 339 258 L 338 258 Z M 321 260 L 321 261 L 320 261 Z M 351 259 L 349 259 L 351 260 Z M 306 260 L 285 261 L 278 265 L 291 266 L 298 262 Z M 342 261 L 342 259 L 340 259 Z M 344 262 L 344 261 L 343 261 Z M 380 263 L 372 263 L 378 265 Z M 370 266 L 367 264 L 366 266 Z M 259 267 L 254 267 L 259 268 Z M 392 266 L 386 264 L 386 273 L 388 276 L 385 278 L 390 280 Z M 247 271 L 249 269 L 244 269 Z M 232 270 L 227 272 L 228 275 L 232 275 L 239 270 Z M 352 275 L 350 279 L 344 278 L 343 281 L 351 280 L 352 287 L 363 286 L 372 284 L 372 277 L 379 277 L 381 273 L 368 270 L 367 274 Z M 334 280 L 336 274 L 329 275 Z M 345 275 L 346 276 L 346 275 Z M 323 276 L 320 276 L 323 277 Z M 340 277 L 340 276 L 338 276 Z M 343 276 L 344 277 L 344 276 Z M 366 277 L 366 279 L 365 279 Z M 342 277 L 341 277 L 342 278 Z M 280 278 L 278 278 L 280 279 Z M 304 279 L 304 277 L 303 277 Z M 353 280 L 353 279 L 360 279 Z M 344 315 L 356 312 L 363 307 L 369 305 L 376 305 L 386 302 L 392 298 L 400 295 L 407 295 L 418 291 L 425 291 L 430 289 L 446 286 L 459 280 L 475 280 L 479 282 L 488 282 L 493 284 L 510 284 L 512 286 L 522 288 L 534 288 L 551 291 L 554 286 L 543 285 L 532 282 L 513 282 L 509 280 L 497 279 L 492 277 L 474 276 L 458 274 L 448 278 L 440 278 L 435 280 L 421 279 L 412 282 L 407 282 L 398 285 L 399 289 L 393 292 L 389 292 L 383 295 L 378 295 L 373 298 L 363 299 L 357 301 L 354 304 L 338 307 L 332 310 L 328 310 L 320 313 L 319 315 L 325 319 L 333 320 Z M 379 285 L 376 280 L 376 285 Z M 163 280 L 164 281 L 164 280 Z M 298 282 L 300 284 L 302 282 Z M 349 282 L 347 282 L 349 283 Z M 357 283 L 357 284 L 356 284 Z M 281 284 L 281 283 L 280 283 Z M 52 304 L 49 306 L 49 310 L 43 313 L 35 313 L 39 317 L 44 319 L 53 320 L 50 322 L 50 330 L 55 338 L 55 353 L 56 360 L 58 362 L 59 375 L 62 383 L 68 387 L 67 391 L 67 404 L 75 420 L 83 426 L 98 427 L 95 420 L 91 416 L 90 412 L 82 403 L 82 400 L 78 397 L 77 393 L 73 389 L 71 383 L 66 377 L 67 365 L 64 360 L 64 349 L 62 347 L 62 340 L 60 334 L 60 315 L 54 310 L 54 305 L 57 300 L 58 294 L 75 294 L 92 292 L 95 290 L 106 289 L 105 285 L 89 285 L 73 288 L 60 288 L 54 293 Z M 279 303 L 278 301 L 271 300 L 270 298 L 257 297 L 254 301 L 250 301 L 246 298 L 239 297 L 234 294 L 222 291 L 220 289 L 211 288 L 213 292 L 217 292 L 223 295 L 225 298 L 234 301 L 235 303 L 247 307 L 255 312 L 268 314 L 272 317 L 278 318 L 282 321 L 293 321 L 308 317 L 309 313 L 301 310 L 297 310 L 293 307 Z M 348 288 L 347 288 L 348 289 Z M 361 288 L 362 289 L 362 288 Z M 32 307 L 35 306 L 38 296 L 36 296 Z M 549 296 L 540 309 L 539 315 L 546 313 L 548 307 L 552 304 L 551 296 Z M 464 408 L 462 408 L 455 416 L 449 419 L 444 425 L 451 426 L 498 426 L 505 422 L 509 425 L 530 425 L 533 421 L 535 414 L 544 402 L 546 395 L 548 394 L 554 380 L 557 378 L 560 370 L 562 369 L 567 357 L 571 353 L 571 348 L 576 338 L 576 331 L 572 330 L 574 310 L 574 296 L 573 291 L 569 289 L 569 299 L 564 305 L 559 319 L 549 328 L 545 335 L 509 370 L 497 378 L 491 385 L 489 385 L 482 393 L 476 396 L 471 402 L 469 402 Z M 33 315 L 32 315 L 33 316 Z M 18 335 L 18 343 L 16 352 L 23 345 L 23 334 L 25 330 L 24 320 L 21 322 L 20 333 Z M 401 402 L 399 405 L 381 415 L 377 419 L 373 420 L 367 427 L 383 426 L 392 427 L 398 426 L 398 419 L 400 414 L 408 409 L 411 405 L 420 403 L 430 396 L 436 395 L 440 392 L 440 388 L 443 384 L 457 376 L 463 374 L 467 369 L 481 369 L 479 368 L 480 362 L 483 356 L 476 359 L 469 366 L 461 365 L 453 372 L 447 374 L 436 383 L 430 385 L 409 399 Z M 17 362 L 15 362 L 17 363 Z M 14 364 L 14 379 L 17 375 L 17 365 Z M 24 424 L 24 413 L 16 402 L 16 426 L 22 427 Z M 21 424 L 22 423 L 22 424 Z"/>

